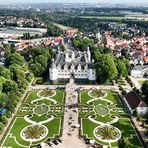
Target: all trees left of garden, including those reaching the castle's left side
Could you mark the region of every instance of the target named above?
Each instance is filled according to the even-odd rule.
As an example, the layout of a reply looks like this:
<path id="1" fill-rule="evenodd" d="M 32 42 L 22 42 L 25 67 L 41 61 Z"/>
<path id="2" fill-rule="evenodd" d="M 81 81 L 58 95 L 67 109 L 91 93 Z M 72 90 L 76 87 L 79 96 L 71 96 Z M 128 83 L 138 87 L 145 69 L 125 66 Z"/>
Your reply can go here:
<path id="1" fill-rule="evenodd" d="M 16 52 L 14 46 L 5 45 L 5 48 L 5 66 L 0 66 L 0 108 L 6 112 L 0 115 L 0 132 L 33 75 L 43 75 L 53 56 L 52 50 L 44 47 L 21 53 Z"/>

